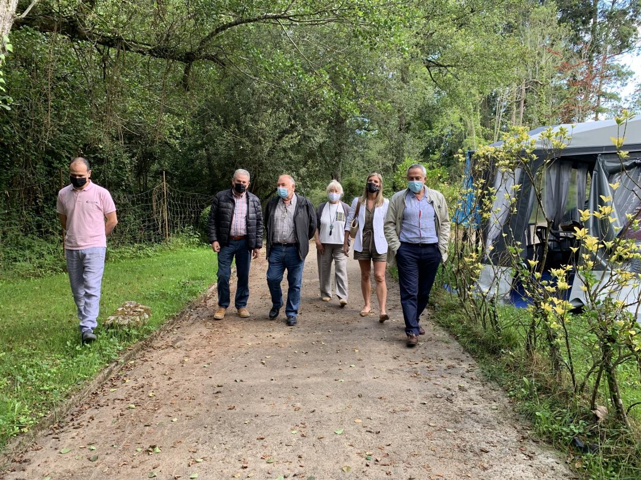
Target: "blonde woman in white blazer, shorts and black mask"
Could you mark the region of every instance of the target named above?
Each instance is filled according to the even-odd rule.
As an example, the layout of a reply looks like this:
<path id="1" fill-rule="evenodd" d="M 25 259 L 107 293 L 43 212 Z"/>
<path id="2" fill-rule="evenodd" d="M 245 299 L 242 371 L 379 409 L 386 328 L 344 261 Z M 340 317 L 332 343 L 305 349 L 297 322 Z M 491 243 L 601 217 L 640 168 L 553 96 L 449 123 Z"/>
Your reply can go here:
<path id="1" fill-rule="evenodd" d="M 369 297 L 371 294 L 370 273 L 374 263 L 374 280 L 376 280 L 376 298 L 378 298 L 379 322 L 383 323 L 387 314 L 387 285 L 385 285 L 385 266 L 387 266 L 387 240 L 383 232 L 383 222 L 387 213 L 389 200 L 383 196 L 383 177 L 379 173 L 370 173 L 365 183 L 363 196 L 352 201 L 349 217 L 345 222 L 345 239 L 343 251 L 349 255 L 349 227 L 357 216 L 358 232 L 354 238 L 354 259 L 358 260 L 361 269 L 361 291 L 365 306 L 362 317 L 372 312 Z"/>

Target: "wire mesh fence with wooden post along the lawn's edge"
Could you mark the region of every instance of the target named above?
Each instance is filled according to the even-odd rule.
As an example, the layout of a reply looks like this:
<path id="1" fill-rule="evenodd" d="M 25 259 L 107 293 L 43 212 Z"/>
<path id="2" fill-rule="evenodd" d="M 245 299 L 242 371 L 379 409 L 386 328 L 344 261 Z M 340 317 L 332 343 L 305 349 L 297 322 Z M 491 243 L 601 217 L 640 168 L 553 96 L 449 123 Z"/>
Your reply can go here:
<path id="1" fill-rule="evenodd" d="M 56 213 L 60 180 L 6 189 L 0 196 L 0 273 L 59 269 L 63 234 Z M 110 248 L 158 244 L 189 232 L 204 235 L 212 196 L 172 188 L 163 180 L 142 193 L 112 192 L 118 225 Z M 53 265 L 50 265 L 53 262 Z M 47 266 L 48 265 L 48 266 Z"/>

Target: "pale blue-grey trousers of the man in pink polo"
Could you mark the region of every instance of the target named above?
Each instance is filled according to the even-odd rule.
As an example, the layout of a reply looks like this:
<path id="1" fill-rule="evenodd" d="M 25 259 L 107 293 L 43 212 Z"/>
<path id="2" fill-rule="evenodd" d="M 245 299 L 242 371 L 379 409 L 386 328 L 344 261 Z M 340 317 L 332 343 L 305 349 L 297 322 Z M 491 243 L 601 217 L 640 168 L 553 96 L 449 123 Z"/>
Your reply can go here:
<path id="1" fill-rule="evenodd" d="M 98 325 L 100 309 L 100 289 L 103 284 L 104 246 L 83 248 L 83 250 L 65 249 L 67 272 L 71 292 L 74 294 L 80 332 L 93 332 Z"/>

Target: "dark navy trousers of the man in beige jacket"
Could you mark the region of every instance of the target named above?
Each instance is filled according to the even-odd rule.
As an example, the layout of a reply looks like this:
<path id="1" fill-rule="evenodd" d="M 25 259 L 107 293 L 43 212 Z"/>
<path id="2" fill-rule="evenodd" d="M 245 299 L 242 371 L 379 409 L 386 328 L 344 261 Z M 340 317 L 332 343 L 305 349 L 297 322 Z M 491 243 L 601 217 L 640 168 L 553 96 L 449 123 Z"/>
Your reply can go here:
<path id="1" fill-rule="evenodd" d="M 396 252 L 405 333 L 419 335 L 419 318 L 428 305 L 429 292 L 441 262 L 438 245 L 401 243 Z"/>

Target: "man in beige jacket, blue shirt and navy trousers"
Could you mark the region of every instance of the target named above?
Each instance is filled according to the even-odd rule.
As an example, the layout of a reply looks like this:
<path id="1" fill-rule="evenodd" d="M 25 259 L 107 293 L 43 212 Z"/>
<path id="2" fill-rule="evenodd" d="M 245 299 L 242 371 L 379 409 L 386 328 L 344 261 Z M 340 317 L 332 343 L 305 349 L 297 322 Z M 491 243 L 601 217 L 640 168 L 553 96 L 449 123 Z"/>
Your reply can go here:
<path id="1" fill-rule="evenodd" d="M 408 188 L 395 193 L 385 216 L 388 265 L 397 265 L 407 346 L 415 347 L 425 331 L 420 315 L 428 305 L 438 266 L 447 260 L 449 214 L 445 197 L 425 186 L 425 167 L 408 168 Z"/>

